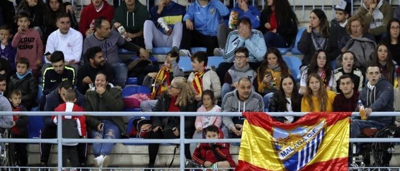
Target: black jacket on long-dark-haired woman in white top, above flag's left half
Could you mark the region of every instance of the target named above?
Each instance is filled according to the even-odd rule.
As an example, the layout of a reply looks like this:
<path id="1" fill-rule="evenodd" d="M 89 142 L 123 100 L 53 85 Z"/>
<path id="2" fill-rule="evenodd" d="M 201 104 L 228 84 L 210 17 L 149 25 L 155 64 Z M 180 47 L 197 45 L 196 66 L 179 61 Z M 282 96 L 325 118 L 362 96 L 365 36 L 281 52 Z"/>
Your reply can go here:
<path id="1" fill-rule="evenodd" d="M 302 99 L 302 95 L 300 95 L 296 99 Z M 294 99 L 291 98 L 291 101 L 294 101 Z M 291 105 L 292 105 L 293 112 L 301 111 L 301 100 L 299 101 L 299 103 L 292 103 Z M 274 95 L 272 95 L 272 97 L 270 98 L 270 103 L 268 104 L 268 111 L 269 112 L 285 112 L 280 109 L 278 93 L 274 93 Z M 300 117 L 294 117 L 293 122 L 295 122 L 298 118 L 300 118 Z M 280 121 L 280 122 L 284 122 L 287 120 L 285 117 L 282 117 L 282 116 L 276 117 L 276 119 L 278 119 L 278 121 Z"/>

